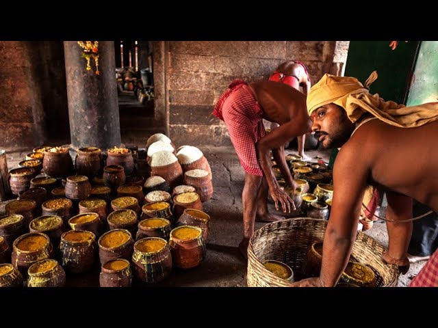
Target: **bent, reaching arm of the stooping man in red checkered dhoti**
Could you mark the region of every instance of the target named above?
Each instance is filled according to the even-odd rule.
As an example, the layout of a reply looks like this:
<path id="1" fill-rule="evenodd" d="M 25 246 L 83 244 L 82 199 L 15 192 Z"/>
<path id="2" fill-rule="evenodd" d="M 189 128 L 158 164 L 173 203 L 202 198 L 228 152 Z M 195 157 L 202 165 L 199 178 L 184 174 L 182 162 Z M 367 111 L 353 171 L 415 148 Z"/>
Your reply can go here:
<path id="1" fill-rule="evenodd" d="M 305 115 L 305 113 L 299 114 L 296 115 L 296 117 L 292 118 L 290 122 L 282 124 L 278 128 L 268 133 L 268 135 L 261 138 L 256 144 L 259 163 L 261 169 L 263 170 L 263 173 L 266 176 L 270 195 L 272 197 L 272 200 L 274 200 L 276 210 L 279 209 L 278 202 L 280 202 L 281 207 L 283 208 L 283 212 L 286 212 L 286 209 L 290 212 L 289 203 L 294 204 L 294 202 L 287 195 L 287 193 L 285 193 L 285 191 L 280 189 L 280 186 L 274 177 L 272 167 L 270 165 L 270 151 L 276 148 L 280 148 L 287 141 L 293 139 L 294 137 L 297 137 L 298 135 L 303 135 L 307 133 L 308 131 L 310 131 L 310 128 L 311 120 L 309 116 Z M 284 156 L 281 161 L 283 161 L 283 165 L 286 165 L 286 160 Z M 287 171 L 289 170 L 287 169 Z M 292 175 L 290 175 L 290 172 L 289 176 L 290 179 L 292 179 Z"/>

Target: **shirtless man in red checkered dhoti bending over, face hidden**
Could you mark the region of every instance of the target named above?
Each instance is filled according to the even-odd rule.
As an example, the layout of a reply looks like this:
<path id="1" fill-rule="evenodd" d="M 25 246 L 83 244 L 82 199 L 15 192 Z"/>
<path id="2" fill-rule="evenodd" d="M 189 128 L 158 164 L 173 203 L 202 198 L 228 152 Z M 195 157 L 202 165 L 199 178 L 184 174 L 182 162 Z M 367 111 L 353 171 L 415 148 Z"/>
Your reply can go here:
<path id="1" fill-rule="evenodd" d="M 249 239 L 257 221 L 272 222 L 283 217 L 268 213 L 268 188 L 276 210 L 283 213 L 295 209 L 292 199 L 281 190 L 272 172 L 270 152 L 289 186 L 297 187 L 280 148 L 297 135 L 310 131 L 311 120 L 306 111 L 306 97 L 289 85 L 259 81 L 247 85 L 235 80 L 220 96 L 213 114 L 223 120 L 231 142 L 245 171 L 242 192 L 244 236 L 239 249 L 247 257 Z M 263 118 L 280 126 L 266 135 Z"/>

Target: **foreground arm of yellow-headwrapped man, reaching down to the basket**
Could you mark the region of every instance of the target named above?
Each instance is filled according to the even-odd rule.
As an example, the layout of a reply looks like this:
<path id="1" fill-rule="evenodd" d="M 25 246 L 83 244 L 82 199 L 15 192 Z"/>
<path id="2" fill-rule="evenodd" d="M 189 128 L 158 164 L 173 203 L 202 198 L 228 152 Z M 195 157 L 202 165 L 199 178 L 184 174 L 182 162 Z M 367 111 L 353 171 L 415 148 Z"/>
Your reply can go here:
<path id="1" fill-rule="evenodd" d="M 356 145 L 358 146 L 358 145 Z M 356 147 L 358 148 L 358 147 Z M 320 277 L 294 283 L 294 286 L 335 286 L 346 268 L 357 236 L 357 223 L 369 167 L 359 151 L 342 148 L 333 170 L 333 204 L 324 235 Z"/>

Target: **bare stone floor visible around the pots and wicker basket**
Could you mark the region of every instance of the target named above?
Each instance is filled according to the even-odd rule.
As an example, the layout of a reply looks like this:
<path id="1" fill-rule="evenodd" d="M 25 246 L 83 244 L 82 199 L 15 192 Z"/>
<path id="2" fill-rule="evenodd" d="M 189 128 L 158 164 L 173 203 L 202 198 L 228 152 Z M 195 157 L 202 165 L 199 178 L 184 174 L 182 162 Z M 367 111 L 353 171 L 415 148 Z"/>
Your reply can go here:
<path id="1" fill-rule="evenodd" d="M 213 197 L 203 204 L 205 212 L 211 216 L 207 256 L 194 269 L 174 269 L 170 277 L 158 286 L 246 286 L 247 263 L 237 249 L 242 239 L 244 171 L 231 147 L 202 147 L 201 150 L 210 163 L 214 184 Z M 287 152 L 296 153 L 294 150 Z M 307 154 L 312 157 L 319 155 L 324 161 L 329 161 L 329 152 L 311 150 Z M 20 154 L 8 154 L 9 168 L 15 167 L 20 160 Z M 0 214 L 4 212 L 4 203 L 0 203 Z M 272 205 L 270 209 L 273 209 Z M 256 223 L 256 229 L 263 224 Z M 374 227 L 365 233 L 387 245 L 383 221 L 376 221 Z M 400 276 L 399 286 L 407 286 L 424 263 L 412 264 L 407 275 Z M 99 271 L 68 278 L 68 286 L 99 286 Z"/>

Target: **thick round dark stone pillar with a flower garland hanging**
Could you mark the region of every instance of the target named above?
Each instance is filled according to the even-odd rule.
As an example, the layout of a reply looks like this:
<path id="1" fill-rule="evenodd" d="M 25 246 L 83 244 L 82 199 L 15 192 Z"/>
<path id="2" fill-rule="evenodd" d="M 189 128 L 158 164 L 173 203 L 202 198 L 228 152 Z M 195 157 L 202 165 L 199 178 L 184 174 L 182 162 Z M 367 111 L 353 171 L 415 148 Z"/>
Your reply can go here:
<path id="1" fill-rule="evenodd" d="M 120 146 L 114 41 L 99 41 L 99 71 L 86 70 L 76 41 L 64 41 L 71 146 Z"/>

